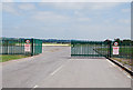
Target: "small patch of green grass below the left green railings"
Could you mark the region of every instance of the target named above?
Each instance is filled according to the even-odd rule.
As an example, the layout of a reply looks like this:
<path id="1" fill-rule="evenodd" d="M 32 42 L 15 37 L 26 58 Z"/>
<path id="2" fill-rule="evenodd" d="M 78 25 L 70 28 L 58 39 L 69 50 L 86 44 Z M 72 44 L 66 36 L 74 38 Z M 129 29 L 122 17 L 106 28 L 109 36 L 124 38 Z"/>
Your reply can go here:
<path id="1" fill-rule="evenodd" d="M 0 62 L 6 62 L 6 61 L 10 61 L 10 60 L 17 60 L 17 59 L 21 59 L 21 58 L 27 58 L 28 56 L 0 56 Z"/>

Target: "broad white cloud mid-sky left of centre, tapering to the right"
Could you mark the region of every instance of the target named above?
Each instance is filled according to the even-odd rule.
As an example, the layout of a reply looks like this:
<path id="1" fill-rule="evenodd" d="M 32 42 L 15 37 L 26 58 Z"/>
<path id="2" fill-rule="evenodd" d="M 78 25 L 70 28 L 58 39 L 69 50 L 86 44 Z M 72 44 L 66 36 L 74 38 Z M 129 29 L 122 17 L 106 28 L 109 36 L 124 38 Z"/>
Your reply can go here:
<path id="1" fill-rule="evenodd" d="M 89 17 L 65 16 L 65 14 L 55 13 L 52 11 L 37 11 L 35 14 L 31 17 L 31 19 L 47 22 L 50 24 L 59 23 L 59 22 L 60 23 L 65 23 L 65 22 L 73 23 L 73 21 L 74 22 L 90 22 L 91 21 L 91 18 Z"/>

